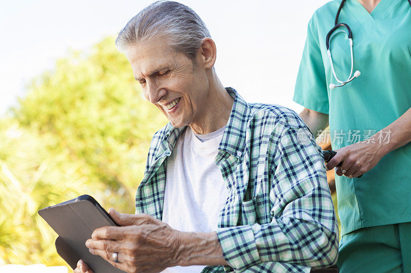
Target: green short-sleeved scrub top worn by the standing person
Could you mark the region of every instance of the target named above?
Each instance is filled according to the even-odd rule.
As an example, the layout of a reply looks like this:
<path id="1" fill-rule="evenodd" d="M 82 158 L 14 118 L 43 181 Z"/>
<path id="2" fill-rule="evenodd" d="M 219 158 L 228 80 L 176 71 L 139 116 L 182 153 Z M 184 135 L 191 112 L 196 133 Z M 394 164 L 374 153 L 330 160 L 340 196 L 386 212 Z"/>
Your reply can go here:
<path id="1" fill-rule="evenodd" d="M 339 83 L 332 75 L 326 36 L 340 3 L 327 3 L 308 24 L 293 98 L 329 114 L 332 149 L 365 140 L 411 108 L 411 9 L 406 0 L 381 0 L 371 13 L 357 0 L 346 1 L 338 22 L 351 28 L 353 73 L 361 75 L 329 89 L 330 83 Z M 330 49 L 335 73 L 346 80 L 351 69 L 347 35 L 338 32 Z M 378 141 L 389 141 L 389 136 L 381 134 Z M 336 176 L 335 183 L 341 236 L 363 227 L 410 222 L 411 143 L 388 153 L 361 178 Z"/>

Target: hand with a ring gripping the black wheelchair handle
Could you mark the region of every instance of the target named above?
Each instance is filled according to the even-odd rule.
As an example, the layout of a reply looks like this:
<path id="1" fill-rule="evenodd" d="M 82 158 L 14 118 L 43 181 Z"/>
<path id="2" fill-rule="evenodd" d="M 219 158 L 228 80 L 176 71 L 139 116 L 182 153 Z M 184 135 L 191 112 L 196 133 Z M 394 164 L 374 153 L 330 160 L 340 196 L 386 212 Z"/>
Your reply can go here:
<path id="1" fill-rule="evenodd" d="M 336 150 L 335 155 L 326 165 L 326 170 L 336 167 L 335 173 L 349 178 L 365 174 L 381 160 L 384 154 L 378 143 L 357 142 Z M 340 166 L 338 166 L 341 163 Z M 345 172 L 343 172 L 343 170 Z"/>

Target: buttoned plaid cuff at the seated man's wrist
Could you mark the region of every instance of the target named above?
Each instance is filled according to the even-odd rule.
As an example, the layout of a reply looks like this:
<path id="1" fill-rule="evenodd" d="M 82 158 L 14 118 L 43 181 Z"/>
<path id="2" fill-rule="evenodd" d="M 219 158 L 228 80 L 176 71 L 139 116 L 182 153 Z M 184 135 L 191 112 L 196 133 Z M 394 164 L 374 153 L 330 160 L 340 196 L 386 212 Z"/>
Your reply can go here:
<path id="1" fill-rule="evenodd" d="M 219 228 L 216 232 L 223 257 L 236 272 L 260 263 L 252 225 Z"/>

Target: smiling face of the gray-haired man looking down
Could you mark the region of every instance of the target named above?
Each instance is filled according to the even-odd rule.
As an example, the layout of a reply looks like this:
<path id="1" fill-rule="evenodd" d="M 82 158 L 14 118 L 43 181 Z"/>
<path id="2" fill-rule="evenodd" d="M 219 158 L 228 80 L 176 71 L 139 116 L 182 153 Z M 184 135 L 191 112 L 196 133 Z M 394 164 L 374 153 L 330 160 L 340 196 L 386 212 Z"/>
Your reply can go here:
<path id="1" fill-rule="evenodd" d="M 209 90 L 201 56 L 194 65 L 183 53 L 172 50 L 164 38 L 128 46 L 126 56 L 144 97 L 155 104 L 174 127 L 201 119 L 207 108 Z"/>

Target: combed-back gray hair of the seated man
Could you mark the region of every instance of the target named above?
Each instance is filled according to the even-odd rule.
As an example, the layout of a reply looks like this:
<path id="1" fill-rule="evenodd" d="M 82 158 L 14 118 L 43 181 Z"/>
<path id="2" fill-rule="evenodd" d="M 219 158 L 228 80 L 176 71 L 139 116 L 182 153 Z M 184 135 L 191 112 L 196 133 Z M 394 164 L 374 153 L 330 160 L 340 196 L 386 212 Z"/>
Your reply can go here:
<path id="1" fill-rule="evenodd" d="M 202 39 L 211 35 L 191 8 L 178 2 L 157 1 L 128 21 L 116 39 L 116 47 L 124 53 L 128 45 L 155 37 L 165 37 L 173 50 L 195 63 Z"/>

